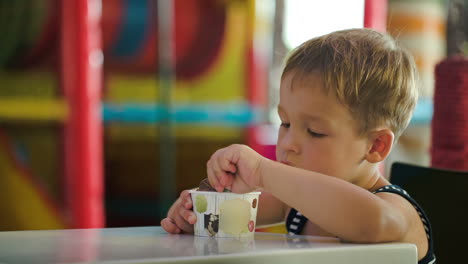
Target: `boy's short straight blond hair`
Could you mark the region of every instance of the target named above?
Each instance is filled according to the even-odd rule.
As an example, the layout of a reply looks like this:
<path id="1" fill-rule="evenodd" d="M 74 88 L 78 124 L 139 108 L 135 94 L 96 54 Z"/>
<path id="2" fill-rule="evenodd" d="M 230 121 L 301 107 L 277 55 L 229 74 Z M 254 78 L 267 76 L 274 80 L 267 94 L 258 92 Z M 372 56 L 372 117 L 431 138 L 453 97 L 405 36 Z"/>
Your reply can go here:
<path id="1" fill-rule="evenodd" d="M 388 35 L 370 29 L 342 30 L 313 38 L 286 61 L 283 77 L 317 73 L 326 92 L 346 105 L 366 134 L 378 126 L 397 139 L 407 127 L 418 98 L 412 56 Z"/>

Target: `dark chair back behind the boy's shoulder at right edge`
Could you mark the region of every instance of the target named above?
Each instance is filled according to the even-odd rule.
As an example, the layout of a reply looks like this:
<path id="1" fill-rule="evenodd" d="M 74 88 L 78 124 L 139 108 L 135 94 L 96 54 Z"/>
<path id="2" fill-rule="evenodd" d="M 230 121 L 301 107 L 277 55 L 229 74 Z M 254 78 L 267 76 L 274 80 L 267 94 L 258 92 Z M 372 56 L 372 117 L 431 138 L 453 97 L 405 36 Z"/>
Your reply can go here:
<path id="1" fill-rule="evenodd" d="M 405 189 L 428 215 L 436 262 L 467 263 L 468 171 L 397 162 L 392 165 L 390 181 Z"/>

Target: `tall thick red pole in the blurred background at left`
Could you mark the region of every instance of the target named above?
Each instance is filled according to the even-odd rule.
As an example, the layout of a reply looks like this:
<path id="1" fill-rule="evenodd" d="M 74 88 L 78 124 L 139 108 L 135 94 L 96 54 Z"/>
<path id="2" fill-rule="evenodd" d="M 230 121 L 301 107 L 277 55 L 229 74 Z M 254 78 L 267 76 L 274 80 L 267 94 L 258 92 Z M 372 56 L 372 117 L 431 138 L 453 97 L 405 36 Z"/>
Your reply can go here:
<path id="1" fill-rule="evenodd" d="M 72 228 L 104 226 L 101 7 L 101 0 L 62 1 L 61 71 L 69 106 L 65 188 Z"/>

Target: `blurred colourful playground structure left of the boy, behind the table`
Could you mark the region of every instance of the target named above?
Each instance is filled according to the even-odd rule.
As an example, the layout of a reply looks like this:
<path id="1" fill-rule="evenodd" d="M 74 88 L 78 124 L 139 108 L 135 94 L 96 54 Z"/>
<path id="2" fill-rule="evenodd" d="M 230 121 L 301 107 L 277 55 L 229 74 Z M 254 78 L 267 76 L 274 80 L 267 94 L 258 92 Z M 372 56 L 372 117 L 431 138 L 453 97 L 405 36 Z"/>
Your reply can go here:
<path id="1" fill-rule="evenodd" d="M 219 0 L 2 1 L 0 31 L 8 34 L 0 47 L 0 229 L 101 227 L 104 216 L 108 226 L 157 224 L 169 199 L 204 177 L 201 160 L 246 142 L 246 128 L 262 120 L 262 56 L 269 52 L 254 31 L 269 30 L 266 7 Z M 173 67 L 158 63 L 166 53 Z M 87 56 L 92 72 L 80 68 Z M 170 133 L 162 134 L 168 120 Z M 160 152 L 167 141 L 177 151 Z M 163 188 L 166 156 L 178 167 Z"/>

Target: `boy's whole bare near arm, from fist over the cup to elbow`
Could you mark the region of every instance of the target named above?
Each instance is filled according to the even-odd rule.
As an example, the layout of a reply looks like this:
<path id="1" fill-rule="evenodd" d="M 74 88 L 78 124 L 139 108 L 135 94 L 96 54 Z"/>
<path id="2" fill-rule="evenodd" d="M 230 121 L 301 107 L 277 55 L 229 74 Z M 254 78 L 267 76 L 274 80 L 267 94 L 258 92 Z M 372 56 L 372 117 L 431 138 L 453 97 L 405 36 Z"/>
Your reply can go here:
<path id="1" fill-rule="evenodd" d="M 402 241 L 411 216 L 401 206 L 344 180 L 266 159 L 245 145 L 216 151 L 210 184 L 222 191 L 258 188 L 296 208 L 325 231 L 353 242 Z"/>

